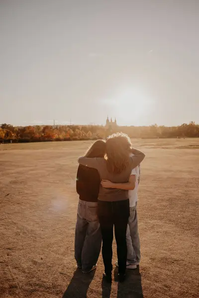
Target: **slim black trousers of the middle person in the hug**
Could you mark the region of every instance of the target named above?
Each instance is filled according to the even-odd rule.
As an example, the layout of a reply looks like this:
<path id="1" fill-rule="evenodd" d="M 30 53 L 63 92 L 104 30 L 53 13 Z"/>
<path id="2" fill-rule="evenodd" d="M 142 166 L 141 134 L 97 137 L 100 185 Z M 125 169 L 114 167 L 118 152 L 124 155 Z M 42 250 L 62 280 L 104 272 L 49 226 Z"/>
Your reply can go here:
<path id="1" fill-rule="evenodd" d="M 98 217 L 102 234 L 102 257 L 106 274 L 112 271 L 113 226 L 117 244 L 118 272 L 126 271 L 126 228 L 130 215 L 129 200 L 106 202 L 98 201 Z"/>

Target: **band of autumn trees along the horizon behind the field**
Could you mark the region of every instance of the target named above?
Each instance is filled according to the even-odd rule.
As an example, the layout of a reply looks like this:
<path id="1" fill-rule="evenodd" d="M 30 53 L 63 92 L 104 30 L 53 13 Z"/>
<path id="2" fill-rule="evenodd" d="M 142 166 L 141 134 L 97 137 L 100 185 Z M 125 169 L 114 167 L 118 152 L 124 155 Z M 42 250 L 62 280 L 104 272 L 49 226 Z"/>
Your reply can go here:
<path id="1" fill-rule="evenodd" d="M 197 138 L 199 125 L 195 122 L 180 126 L 117 126 L 106 129 L 100 125 L 46 125 L 18 127 L 10 124 L 0 125 L 0 143 L 2 142 L 50 142 L 104 139 L 116 132 L 127 134 L 130 138 Z"/>

